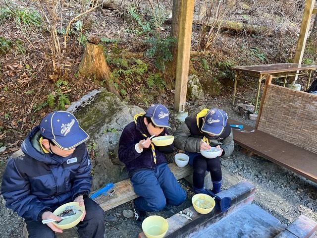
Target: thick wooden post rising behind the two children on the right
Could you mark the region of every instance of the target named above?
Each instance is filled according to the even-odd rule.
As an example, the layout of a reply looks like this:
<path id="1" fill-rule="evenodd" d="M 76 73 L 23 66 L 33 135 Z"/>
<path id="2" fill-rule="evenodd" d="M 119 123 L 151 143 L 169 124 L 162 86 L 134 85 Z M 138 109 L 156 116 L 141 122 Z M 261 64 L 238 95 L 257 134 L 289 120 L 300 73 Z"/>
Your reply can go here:
<path id="1" fill-rule="evenodd" d="M 185 110 L 195 0 L 180 0 L 174 110 Z"/>

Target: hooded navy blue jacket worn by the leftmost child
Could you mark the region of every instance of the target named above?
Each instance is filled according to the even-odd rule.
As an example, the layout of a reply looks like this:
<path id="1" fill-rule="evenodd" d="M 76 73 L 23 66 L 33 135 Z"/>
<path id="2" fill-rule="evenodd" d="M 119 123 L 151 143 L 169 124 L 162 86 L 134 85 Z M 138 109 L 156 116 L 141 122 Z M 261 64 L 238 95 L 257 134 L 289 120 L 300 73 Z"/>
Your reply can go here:
<path id="1" fill-rule="evenodd" d="M 89 194 L 91 163 L 85 144 L 68 157 L 46 154 L 39 143 L 39 126 L 23 141 L 23 156 L 9 158 L 1 193 L 6 207 L 25 219 L 41 220 L 45 211 Z"/>

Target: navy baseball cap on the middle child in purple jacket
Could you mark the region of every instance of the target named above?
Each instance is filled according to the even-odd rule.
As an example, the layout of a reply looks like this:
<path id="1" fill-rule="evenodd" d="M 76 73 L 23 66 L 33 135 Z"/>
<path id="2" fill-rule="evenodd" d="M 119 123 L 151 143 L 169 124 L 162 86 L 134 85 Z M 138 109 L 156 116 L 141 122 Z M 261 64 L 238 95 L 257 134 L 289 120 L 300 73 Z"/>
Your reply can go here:
<path id="1" fill-rule="evenodd" d="M 145 114 L 145 116 L 151 118 L 153 124 L 155 124 L 156 126 L 170 128 L 170 125 L 168 123 L 168 109 L 161 104 L 152 104 L 148 108 L 148 111 Z"/>

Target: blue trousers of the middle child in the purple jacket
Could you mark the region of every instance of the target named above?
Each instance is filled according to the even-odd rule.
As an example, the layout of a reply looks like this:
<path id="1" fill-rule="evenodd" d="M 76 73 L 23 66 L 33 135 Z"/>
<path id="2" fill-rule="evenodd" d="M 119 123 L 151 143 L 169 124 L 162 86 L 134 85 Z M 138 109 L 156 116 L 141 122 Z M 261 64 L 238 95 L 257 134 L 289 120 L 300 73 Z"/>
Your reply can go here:
<path id="1" fill-rule="evenodd" d="M 186 199 L 186 191 L 166 163 L 153 170 L 133 173 L 131 182 L 134 192 L 140 196 L 134 200 L 134 206 L 139 211 L 159 211 L 166 205 L 178 206 Z"/>

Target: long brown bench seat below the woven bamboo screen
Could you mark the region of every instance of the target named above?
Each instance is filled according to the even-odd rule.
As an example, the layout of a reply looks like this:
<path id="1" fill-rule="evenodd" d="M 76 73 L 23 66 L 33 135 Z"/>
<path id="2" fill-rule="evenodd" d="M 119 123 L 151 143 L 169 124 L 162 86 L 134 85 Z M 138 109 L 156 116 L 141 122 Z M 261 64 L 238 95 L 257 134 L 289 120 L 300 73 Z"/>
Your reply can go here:
<path id="1" fill-rule="evenodd" d="M 243 124 L 229 120 L 230 124 Z M 243 124 L 245 130 L 254 129 Z M 272 135 L 255 130 L 255 132 L 241 132 L 233 129 L 234 142 L 241 147 L 254 151 L 256 154 L 283 166 L 307 179 L 317 182 L 317 156 L 315 153 L 297 147 Z"/>

